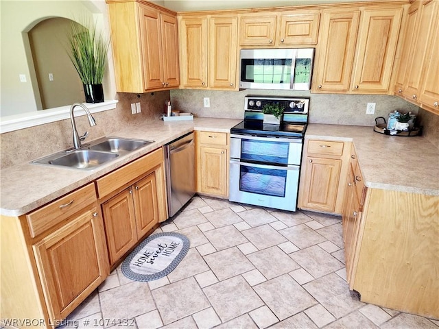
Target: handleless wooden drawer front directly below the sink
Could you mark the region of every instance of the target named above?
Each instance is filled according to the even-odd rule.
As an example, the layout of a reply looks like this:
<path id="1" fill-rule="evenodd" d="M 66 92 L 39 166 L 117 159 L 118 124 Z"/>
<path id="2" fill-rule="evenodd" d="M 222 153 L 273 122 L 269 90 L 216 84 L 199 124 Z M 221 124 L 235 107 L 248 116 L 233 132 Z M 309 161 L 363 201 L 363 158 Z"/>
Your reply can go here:
<path id="1" fill-rule="evenodd" d="M 143 173 L 147 173 L 163 162 L 163 150 L 156 149 L 150 154 L 143 156 L 125 166 L 116 169 L 112 173 L 108 173 L 99 180 L 96 180 L 97 195 L 102 199 L 106 195 L 116 191 L 123 185 L 126 185 Z"/>

